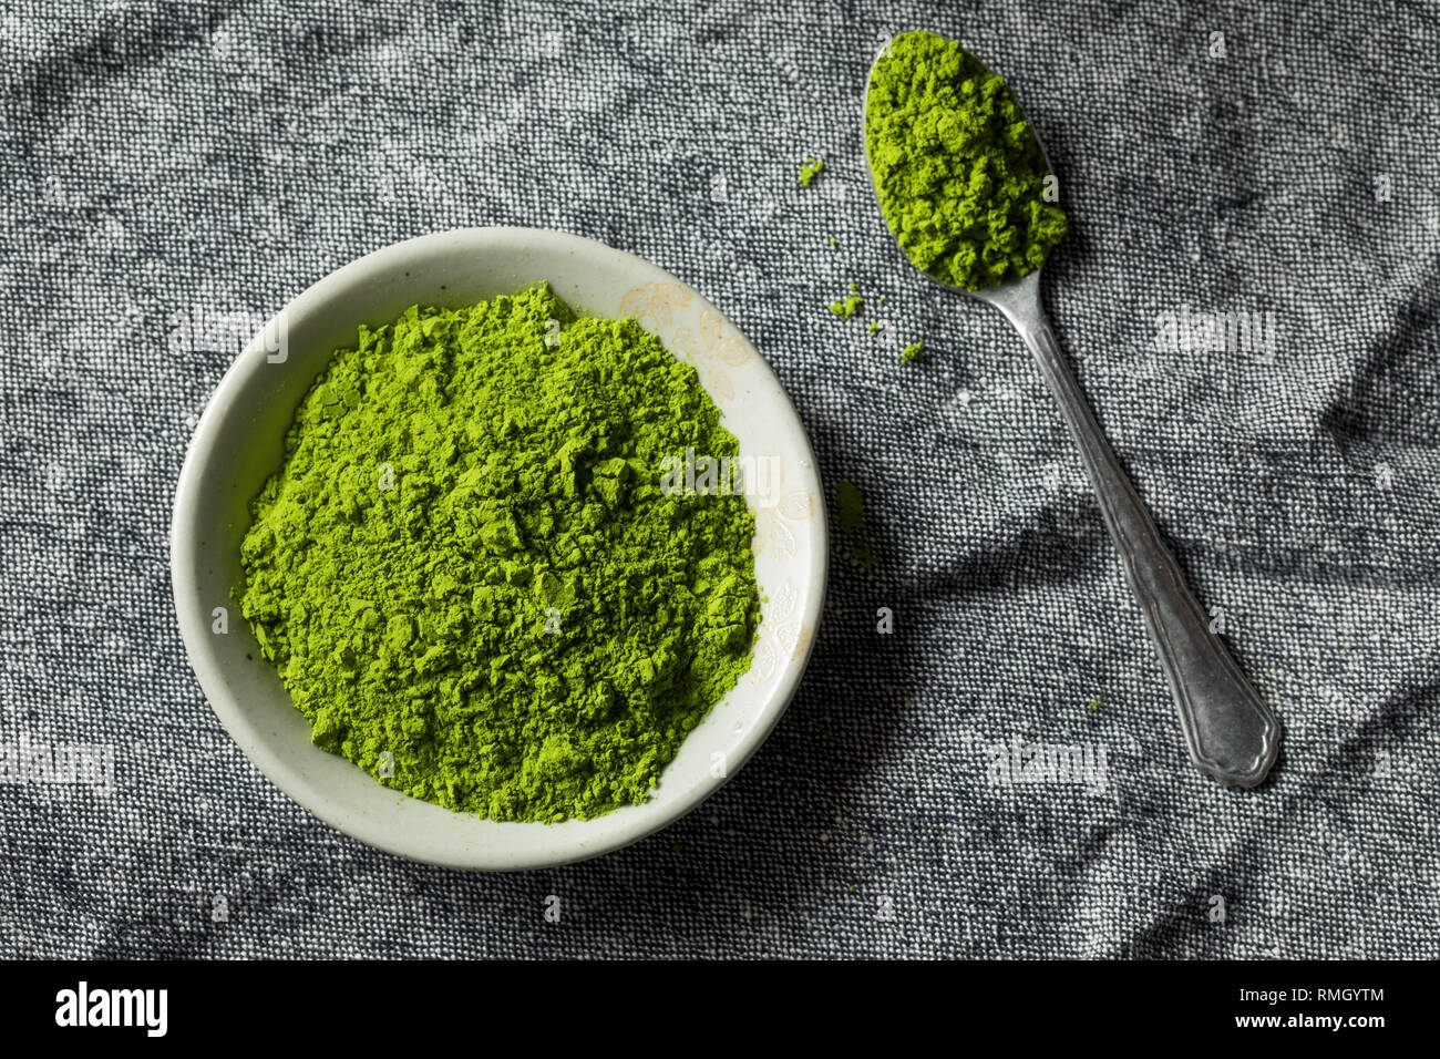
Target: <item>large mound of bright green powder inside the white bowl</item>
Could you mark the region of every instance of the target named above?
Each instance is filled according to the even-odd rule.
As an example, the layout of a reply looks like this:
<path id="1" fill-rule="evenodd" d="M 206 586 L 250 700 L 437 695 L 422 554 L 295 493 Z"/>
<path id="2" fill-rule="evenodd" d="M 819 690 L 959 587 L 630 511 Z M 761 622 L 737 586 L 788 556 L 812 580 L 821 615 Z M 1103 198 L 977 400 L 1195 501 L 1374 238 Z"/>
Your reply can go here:
<path id="1" fill-rule="evenodd" d="M 360 329 L 252 503 L 240 607 L 317 746 L 492 820 L 644 803 L 749 669 L 734 437 L 634 320 L 536 287 Z"/>

